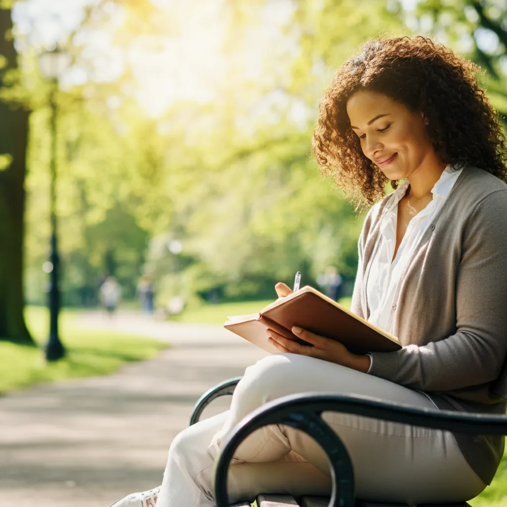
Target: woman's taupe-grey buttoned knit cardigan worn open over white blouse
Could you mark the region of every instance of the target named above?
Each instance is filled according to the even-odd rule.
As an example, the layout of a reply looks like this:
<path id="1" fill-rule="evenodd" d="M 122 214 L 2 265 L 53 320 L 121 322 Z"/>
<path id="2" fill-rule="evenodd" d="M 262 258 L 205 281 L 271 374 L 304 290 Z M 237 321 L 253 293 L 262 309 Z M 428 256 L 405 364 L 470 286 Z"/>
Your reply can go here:
<path id="1" fill-rule="evenodd" d="M 367 319 L 366 280 L 389 196 L 361 232 L 351 310 Z M 426 392 L 439 409 L 505 413 L 507 399 L 507 185 L 466 165 L 412 252 L 389 317 L 403 348 L 373 352 L 370 375 Z M 498 436 L 454 434 L 490 483 L 503 454 Z"/>

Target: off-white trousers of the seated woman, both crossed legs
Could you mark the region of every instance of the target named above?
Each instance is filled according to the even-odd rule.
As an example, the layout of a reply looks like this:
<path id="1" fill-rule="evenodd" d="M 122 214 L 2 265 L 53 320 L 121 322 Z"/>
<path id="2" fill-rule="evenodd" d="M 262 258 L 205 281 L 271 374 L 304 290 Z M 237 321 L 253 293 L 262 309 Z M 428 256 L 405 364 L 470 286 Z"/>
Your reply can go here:
<path id="1" fill-rule="evenodd" d="M 249 412 L 280 396 L 308 391 L 354 393 L 434 409 L 421 392 L 327 361 L 276 354 L 246 369 L 231 409 L 180 432 L 169 449 L 157 507 L 212 507 L 214 464 L 228 432 Z M 392 502 L 457 502 L 486 484 L 448 431 L 324 413 L 354 466 L 358 498 Z M 330 495 L 327 458 L 305 433 L 260 428 L 238 448 L 229 468 L 230 502 L 259 493 Z"/>

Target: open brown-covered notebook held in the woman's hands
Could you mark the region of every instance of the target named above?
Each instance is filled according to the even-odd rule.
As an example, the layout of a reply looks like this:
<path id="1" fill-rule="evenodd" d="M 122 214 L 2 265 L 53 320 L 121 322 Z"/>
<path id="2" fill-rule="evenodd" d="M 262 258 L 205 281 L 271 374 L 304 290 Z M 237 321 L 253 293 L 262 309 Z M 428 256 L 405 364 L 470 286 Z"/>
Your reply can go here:
<path id="1" fill-rule="evenodd" d="M 227 318 L 224 328 L 273 353 L 279 350 L 268 341 L 266 330 L 270 328 L 286 338 L 302 342 L 291 331 L 294 325 L 337 340 L 354 354 L 392 352 L 402 348 L 396 337 L 308 285 L 276 300 L 259 313 Z"/>

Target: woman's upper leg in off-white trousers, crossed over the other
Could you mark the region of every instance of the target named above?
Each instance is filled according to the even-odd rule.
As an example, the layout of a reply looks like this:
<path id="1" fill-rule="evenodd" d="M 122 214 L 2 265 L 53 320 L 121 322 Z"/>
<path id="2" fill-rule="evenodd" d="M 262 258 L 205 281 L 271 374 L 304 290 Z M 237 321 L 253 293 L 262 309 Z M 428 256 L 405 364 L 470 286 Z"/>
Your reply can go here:
<path id="1" fill-rule="evenodd" d="M 216 458 L 224 437 L 252 410 L 277 397 L 305 391 L 363 394 L 435 408 L 423 393 L 392 382 L 311 357 L 276 354 L 247 368 L 234 392 L 229 417 L 208 450 Z M 359 498 L 456 502 L 476 496 L 486 486 L 447 431 L 339 413 L 324 414 L 324 419 L 349 451 Z M 329 474 L 324 453 L 310 438 L 280 426 L 259 429 L 238 448 L 235 463 L 273 461 L 289 451 Z"/>

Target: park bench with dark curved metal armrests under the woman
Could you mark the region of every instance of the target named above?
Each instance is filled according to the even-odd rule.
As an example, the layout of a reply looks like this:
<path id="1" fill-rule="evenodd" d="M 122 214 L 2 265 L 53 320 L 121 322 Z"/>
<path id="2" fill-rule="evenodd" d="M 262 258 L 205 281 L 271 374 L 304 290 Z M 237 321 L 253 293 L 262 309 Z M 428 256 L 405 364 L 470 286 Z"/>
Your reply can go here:
<path id="1" fill-rule="evenodd" d="M 241 377 L 226 380 L 205 392 L 194 408 L 190 424 L 199 420 L 204 408 L 213 400 L 232 394 L 240 379 Z M 259 494 L 255 500 L 257 507 L 407 507 L 407 504 L 373 502 L 354 497 L 354 473 L 348 453 L 336 433 L 320 417 L 322 412 L 330 411 L 461 433 L 507 434 L 507 416 L 418 409 L 367 396 L 347 394 L 304 393 L 284 396 L 245 417 L 224 442 L 215 473 L 217 507 L 230 507 L 227 496 L 227 469 L 235 450 L 250 433 L 268 424 L 284 424 L 298 428 L 319 443 L 328 455 L 333 489 L 331 498 L 306 496 L 298 501 L 288 495 Z M 234 504 L 234 507 L 250 505 L 249 502 L 243 502 Z M 409 507 L 426 506 L 411 504 Z M 427 507 L 469 507 L 469 504 L 442 503 Z"/>

